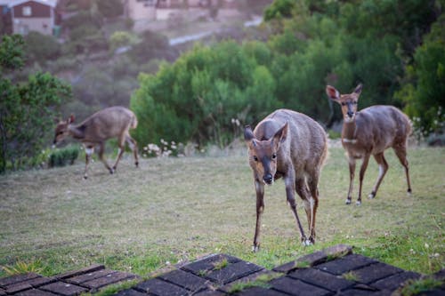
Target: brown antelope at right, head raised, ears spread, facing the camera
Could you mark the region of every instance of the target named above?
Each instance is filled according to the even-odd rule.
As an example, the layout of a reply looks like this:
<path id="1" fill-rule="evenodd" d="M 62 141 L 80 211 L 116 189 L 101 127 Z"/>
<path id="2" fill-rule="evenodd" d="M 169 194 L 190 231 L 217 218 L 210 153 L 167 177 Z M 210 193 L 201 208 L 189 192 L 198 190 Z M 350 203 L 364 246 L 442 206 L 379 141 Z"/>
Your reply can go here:
<path id="1" fill-rule="evenodd" d="M 360 97 L 361 84 L 354 92 L 340 94 L 333 86 L 326 86 L 326 92 L 331 100 L 342 106 L 344 118 L 342 130 L 342 144 L 349 157 L 350 183 L 346 204 L 351 204 L 352 183 L 355 173 L 356 159 L 362 159 L 360 168 L 359 198 L 357 205 L 361 204 L 361 185 L 369 156 L 374 156 L 379 166 L 376 185 L 369 194 L 374 198 L 384 174 L 388 171 L 388 163 L 384 159 L 384 150 L 392 147 L 401 164 L 405 167 L 408 182 L 408 193 L 411 193 L 409 182 L 409 168 L 407 161 L 407 140 L 411 133 L 411 124 L 408 116 L 392 106 L 372 106 L 357 111 L 357 102 Z"/>

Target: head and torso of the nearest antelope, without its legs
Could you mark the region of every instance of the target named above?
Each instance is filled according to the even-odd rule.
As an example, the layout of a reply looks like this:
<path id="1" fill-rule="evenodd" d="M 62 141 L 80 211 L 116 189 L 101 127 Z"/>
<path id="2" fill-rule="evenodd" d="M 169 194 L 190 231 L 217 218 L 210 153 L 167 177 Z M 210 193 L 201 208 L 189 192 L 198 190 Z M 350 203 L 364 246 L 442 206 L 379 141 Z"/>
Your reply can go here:
<path id="1" fill-rule="evenodd" d="M 247 127 L 244 135 L 255 179 L 267 184 L 292 166 L 295 171 L 320 168 L 327 154 L 326 133 L 320 124 L 292 110 L 273 112 L 254 131 Z"/>

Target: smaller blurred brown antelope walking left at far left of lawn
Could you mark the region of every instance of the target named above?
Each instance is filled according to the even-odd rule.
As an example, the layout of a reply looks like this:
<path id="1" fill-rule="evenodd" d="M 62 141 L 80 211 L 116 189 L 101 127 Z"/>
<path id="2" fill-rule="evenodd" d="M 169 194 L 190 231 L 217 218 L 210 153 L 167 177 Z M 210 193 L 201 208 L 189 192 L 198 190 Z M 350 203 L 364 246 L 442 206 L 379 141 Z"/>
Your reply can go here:
<path id="1" fill-rule="evenodd" d="M 109 173 L 116 171 L 117 163 L 124 154 L 125 142 L 133 150 L 134 164 L 138 166 L 138 152 L 136 141 L 130 137 L 129 130 L 136 128 L 138 121 L 134 113 L 124 107 L 110 107 L 94 113 L 89 116 L 81 124 L 74 125 L 74 116 L 71 115 L 66 121 L 57 124 L 54 136 L 54 145 L 71 136 L 76 140 L 80 140 L 85 147 L 85 174 L 87 179 L 88 164 L 93 155 L 94 148 L 99 146 L 99 157 L 101 162 L 105 164 Z M 119 151 L 116 163 L 111 168 L 105 160 L 103 153 L 105 152 L 105 141 L 110 138 L 117 138 Z"/>

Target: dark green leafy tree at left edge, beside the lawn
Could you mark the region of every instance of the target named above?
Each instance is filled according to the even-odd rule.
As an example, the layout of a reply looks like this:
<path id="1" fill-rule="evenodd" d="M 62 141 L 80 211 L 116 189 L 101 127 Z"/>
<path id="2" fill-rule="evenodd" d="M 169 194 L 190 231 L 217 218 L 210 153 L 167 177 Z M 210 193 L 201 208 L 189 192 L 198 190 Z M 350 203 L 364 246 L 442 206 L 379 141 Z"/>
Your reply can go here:
<path id="1" fill-rule="evenodd" d="M 28 82 L 12 84 L 5 76 L 24 63 L 24 42 L 18 35 L 3 36 L 0 44 L 0 173 L 25 166 L 49 140 L 55 108 L 69 97 L 70 87 L 50 74 L 36 73 Z M 5 70 L 5 71 L 4 71 Z"/>

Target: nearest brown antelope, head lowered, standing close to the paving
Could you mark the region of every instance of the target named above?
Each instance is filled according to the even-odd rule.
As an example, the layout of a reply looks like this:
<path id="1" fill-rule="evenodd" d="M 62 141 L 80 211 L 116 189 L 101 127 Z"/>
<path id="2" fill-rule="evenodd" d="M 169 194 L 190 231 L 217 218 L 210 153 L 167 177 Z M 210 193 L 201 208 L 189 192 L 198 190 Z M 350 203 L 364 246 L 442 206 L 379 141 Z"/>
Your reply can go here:
<path id="1" fill-rule="evenodd" d="M 303 244 L 315 242 L 315 215 L 319 206 L 317 188 L 321 166 L 328 153 L 327 137 L 320 124 L 309 116 L 279 109 L 255 127 L 244 131 L 249 164 L 254 172 L 256 191 L 256 227 L 253 251 L 260 247 L 261 216 L 264 211 L 264 184 L 282 177 L 287 203 L 294 213 Z M 295 191 L 303 199 L 309 224 L 306 238 L 296 212 Z"/>

